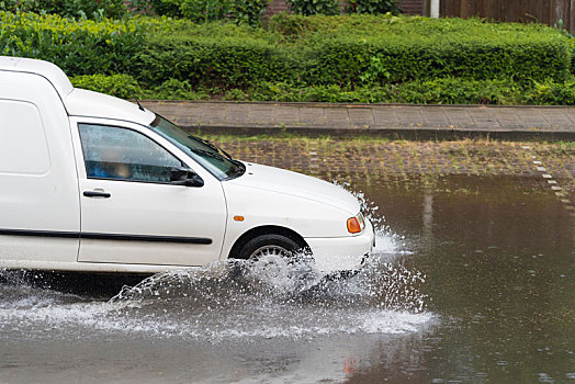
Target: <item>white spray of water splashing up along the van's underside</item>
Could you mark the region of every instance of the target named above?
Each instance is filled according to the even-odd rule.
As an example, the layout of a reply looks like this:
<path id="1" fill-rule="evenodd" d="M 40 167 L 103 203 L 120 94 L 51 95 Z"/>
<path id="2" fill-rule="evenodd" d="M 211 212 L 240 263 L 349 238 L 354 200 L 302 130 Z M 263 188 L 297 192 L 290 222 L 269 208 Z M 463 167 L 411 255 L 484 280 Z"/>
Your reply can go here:
<path id="1" fill-rule="evenodd" d="M 425 275 L 382 257 L 401 252 L 401 239 L 375 204 L 354 195 L 377 233 L 374 255 L 354 273 L 323 275 L 305 257 L 226 260 L 159 273 L 94 302 L 33 289 L 3 272 L 0 330 L 64 327 L 67 335 L 145 332 L 211 342 L 416 331 L 433 317 L 421 293 Z"/>

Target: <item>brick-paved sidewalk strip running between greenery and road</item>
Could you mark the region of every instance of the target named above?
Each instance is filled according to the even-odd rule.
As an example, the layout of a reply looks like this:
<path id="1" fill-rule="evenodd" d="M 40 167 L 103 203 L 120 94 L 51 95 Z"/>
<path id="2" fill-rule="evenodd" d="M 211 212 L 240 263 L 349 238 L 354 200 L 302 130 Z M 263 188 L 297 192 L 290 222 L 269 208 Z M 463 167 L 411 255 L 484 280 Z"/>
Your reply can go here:
<path id="1" fill-rule="evenodd" d="M 484 135 L 575 139 L 575 108 L 143 101 L 177 124 L 210 132 Z"/>

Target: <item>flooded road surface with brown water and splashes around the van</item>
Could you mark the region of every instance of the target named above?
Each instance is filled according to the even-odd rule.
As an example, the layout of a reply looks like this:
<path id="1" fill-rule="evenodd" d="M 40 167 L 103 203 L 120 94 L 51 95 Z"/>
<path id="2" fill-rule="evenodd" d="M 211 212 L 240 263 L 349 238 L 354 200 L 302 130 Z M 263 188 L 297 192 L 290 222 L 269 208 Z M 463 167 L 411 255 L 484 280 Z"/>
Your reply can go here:
<path id="1" fill-rule="evenodd" d="M 380 228 L 348 279 L 218 262 L 63 293 L 0 272 L 0 383 L 575 383 L 575 221 L 553 191 L 348 188 Z"/>

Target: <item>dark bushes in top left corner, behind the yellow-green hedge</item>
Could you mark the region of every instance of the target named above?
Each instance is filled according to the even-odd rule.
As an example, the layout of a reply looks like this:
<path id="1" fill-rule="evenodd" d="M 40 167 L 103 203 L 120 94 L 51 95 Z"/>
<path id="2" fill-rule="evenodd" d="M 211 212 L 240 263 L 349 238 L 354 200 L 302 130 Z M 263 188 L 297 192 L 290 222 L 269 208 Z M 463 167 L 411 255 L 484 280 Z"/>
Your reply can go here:
<path id="1" fill-rule="evenodd" d="M 123 0 L 2 0 L 0 11 L 59 14 L 63 18 L 122 18 L 127 9 Z"/>

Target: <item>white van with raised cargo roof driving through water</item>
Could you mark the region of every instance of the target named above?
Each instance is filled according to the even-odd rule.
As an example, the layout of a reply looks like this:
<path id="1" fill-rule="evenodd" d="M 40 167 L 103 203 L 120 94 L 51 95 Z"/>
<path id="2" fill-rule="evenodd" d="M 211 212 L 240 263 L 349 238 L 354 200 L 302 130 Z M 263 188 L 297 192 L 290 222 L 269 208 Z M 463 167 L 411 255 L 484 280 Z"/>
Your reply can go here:
<path id="1" fill-rule="evenodd" d="M 0 268 L 153 273 L 304 249 L 350 270 L 373 241 L 343 189 L 235 160 L 50 63 L 0 57 Z"/>

